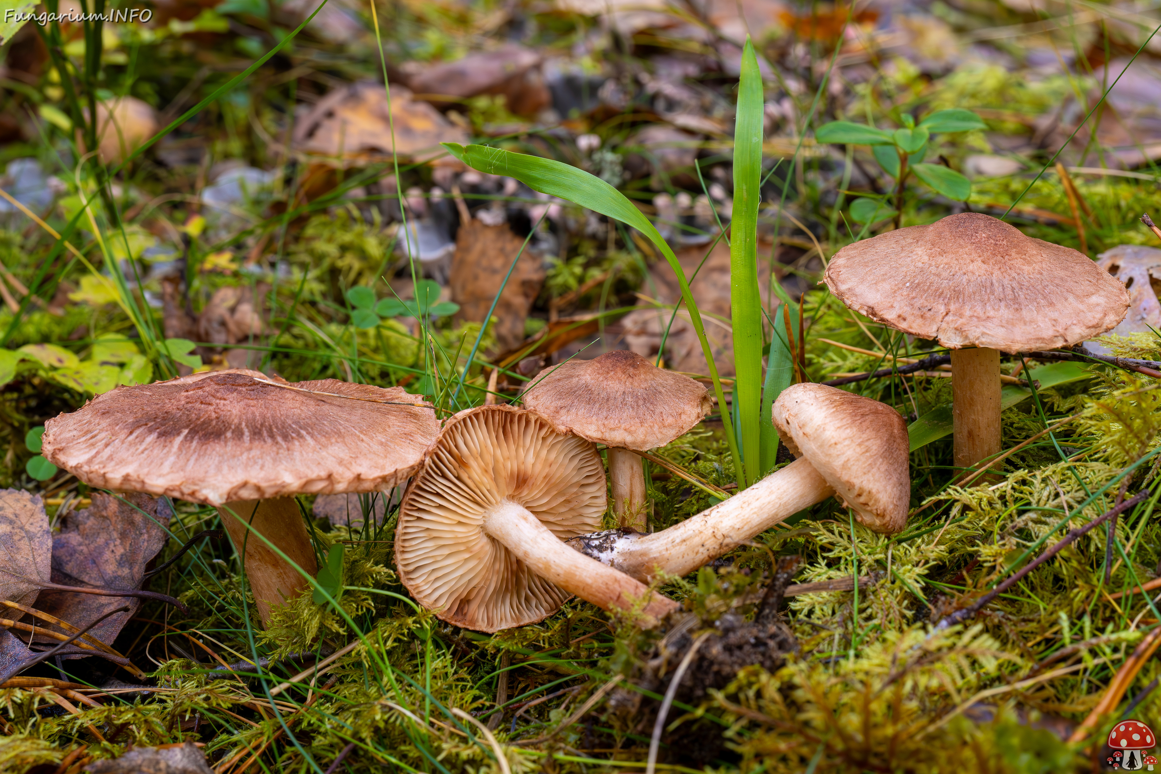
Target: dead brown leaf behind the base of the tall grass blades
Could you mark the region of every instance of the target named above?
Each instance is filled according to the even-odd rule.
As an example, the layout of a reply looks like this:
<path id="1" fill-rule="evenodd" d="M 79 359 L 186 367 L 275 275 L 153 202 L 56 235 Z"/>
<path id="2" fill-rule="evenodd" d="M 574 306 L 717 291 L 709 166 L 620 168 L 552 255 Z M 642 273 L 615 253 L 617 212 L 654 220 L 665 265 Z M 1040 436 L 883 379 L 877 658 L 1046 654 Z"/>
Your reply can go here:
<path id="1" fill-rule="evenodd" d="M 760 254 L 759 249 L 759 254 Z M 677 251 L 677 259 L 685 269 L 685 276 L 690 276 L 705 258 L 705 247 L 686 247 Z M 677 277 L 673 276 L 669 263 L 658 261 L 650 268 L 657 297 L 654 301 L 663 304 L 673 304 L 680 298 L 677 285 Z M 646 288 L 654 287 L 646 283 Z M 770 297 L 770 265 L 765 260 L 758 263 L 758 288 L 763 305 Z M 694 301 L 698 302 L 698 310 L 701 312 L 701 321 L 706 328 L 706 339 L 717 363 L 717 370 L 722 376 L 734 374 L 734 333 L 730 328 L 730 279 L 729 279 L 729 246 L 724 240 L 714 246 L 709 258 L 706 259 L 698 276 L 690 283 Z M 648 303 L 644 298 L 642 302 Z M 629 312 L 621 320 L 621 328 L 625 331 L 625 341 L 629 349 L 644 357 L 656 357 L 661 347 L 662 334 L 672 310 L 637 310 Z M 665 363 L 677 371 L 690 374 L 706 374 L 706 359 L 701 352 L 701 343 L 698 341 L 690 316 L 683 308 L 677 313 L 673 325 L 665 339 Z"/>

